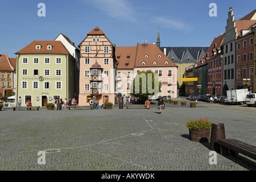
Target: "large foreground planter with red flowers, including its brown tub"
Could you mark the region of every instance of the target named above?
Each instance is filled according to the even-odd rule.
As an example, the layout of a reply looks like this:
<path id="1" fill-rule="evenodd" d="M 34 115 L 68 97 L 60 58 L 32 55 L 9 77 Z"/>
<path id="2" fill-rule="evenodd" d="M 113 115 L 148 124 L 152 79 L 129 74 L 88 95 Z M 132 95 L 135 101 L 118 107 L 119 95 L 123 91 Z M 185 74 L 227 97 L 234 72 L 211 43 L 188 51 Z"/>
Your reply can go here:
<path id="1" fill-rule="evenodd" d="M 186 123 L 190 140 L 194 142 L 209 142 L 211 122 L 208 119 L 191 119 Z"/>

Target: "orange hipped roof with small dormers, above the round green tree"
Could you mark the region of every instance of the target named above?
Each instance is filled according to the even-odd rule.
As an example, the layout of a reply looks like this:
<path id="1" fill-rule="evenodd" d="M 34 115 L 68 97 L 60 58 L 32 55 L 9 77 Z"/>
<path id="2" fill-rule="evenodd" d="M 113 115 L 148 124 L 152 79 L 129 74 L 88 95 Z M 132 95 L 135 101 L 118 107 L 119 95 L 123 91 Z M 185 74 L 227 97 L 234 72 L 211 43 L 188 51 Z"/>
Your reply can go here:
<path id="1" fill-rule="evenodd" d="M 145 55 L 148 55 L 146 58 Z M 161 55 L 159 57 L 159 55 Z M 145 65 L 142 65 L 142 62 Z M 153 64 L 156 61 L 157 64 Z M 168 64 L 165 64 L 165 61 Z M 137 44 L 137 56 L 135 67 L 177 67 L 165 54 L 158 48 L 156 44 Z"/>

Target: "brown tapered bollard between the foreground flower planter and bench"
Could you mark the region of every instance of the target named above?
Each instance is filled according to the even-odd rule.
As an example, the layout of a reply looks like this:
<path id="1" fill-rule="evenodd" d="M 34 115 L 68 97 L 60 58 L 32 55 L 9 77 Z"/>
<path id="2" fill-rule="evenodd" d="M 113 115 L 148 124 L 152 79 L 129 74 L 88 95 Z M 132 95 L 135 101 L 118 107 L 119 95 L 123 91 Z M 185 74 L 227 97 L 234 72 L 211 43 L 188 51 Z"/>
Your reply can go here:
<path id="1" fill-rule="evenodd" d="M 225 127 L 223 123 L 212 123 L 211 124 L 211 139 L 210 139 L 210 150 L 219 152 L 218 139 L 226 139 Z"/>

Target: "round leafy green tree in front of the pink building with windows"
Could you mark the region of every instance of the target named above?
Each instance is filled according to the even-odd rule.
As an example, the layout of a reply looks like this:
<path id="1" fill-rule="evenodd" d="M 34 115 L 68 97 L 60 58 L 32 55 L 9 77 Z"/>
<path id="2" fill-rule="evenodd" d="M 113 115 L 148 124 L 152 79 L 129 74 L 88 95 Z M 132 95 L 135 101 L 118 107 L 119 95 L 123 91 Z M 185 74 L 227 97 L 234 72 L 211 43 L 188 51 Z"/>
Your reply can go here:
<path id="1" fill-rule="evenodd" d="M 131 86 L 131 96 L 146 98 L 157 95 L 161 90 L 161 82 L 151 70 L 139 72 Z M 156 87 L 156 88 L 155 88 Z"/>

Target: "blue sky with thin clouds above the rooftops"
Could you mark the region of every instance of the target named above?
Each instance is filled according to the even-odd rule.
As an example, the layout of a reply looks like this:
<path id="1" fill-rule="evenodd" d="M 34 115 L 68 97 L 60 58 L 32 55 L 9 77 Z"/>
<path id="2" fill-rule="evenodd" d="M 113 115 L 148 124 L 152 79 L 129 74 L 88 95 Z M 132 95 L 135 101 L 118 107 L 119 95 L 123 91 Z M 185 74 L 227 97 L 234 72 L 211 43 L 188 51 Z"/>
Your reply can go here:
<path id="1" fill-rule="evenodd" d="M 38 16 L 38 3 L 46 6 L 46 16 Z M 217 16 L 211 17 L 210 3 Z M 256 9 L 255 0 L 1 0 L 0 53 L 16 57 L 34 40 L 54 40 L 60 33 L 75 46 L 98 26 L 116 46 L 136 46 L 157 40 L 161 47 L 210 46 L 225 32 L 229 7 L 235 19 Z"/>

